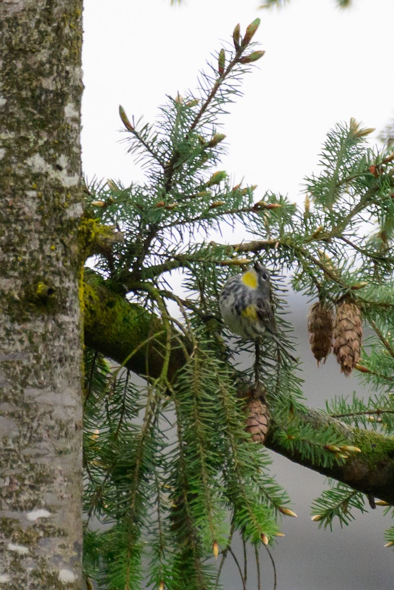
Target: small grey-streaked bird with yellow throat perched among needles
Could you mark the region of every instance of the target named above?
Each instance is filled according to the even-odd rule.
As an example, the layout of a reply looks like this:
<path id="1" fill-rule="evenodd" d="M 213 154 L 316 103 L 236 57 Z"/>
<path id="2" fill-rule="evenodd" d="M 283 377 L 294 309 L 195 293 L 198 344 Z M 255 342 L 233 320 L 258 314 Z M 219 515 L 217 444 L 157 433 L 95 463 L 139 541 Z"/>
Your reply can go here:
<path id="1" fill-rule="evenodd" d="M 256 340 L 265 334 L 297 362 L 278 338 L 270 301 L 270 274 L 262 264 L 257 262 L 245 273 L 229 278 L 221 291 L 219 307 L 231 332 L 245 340 Z"/>

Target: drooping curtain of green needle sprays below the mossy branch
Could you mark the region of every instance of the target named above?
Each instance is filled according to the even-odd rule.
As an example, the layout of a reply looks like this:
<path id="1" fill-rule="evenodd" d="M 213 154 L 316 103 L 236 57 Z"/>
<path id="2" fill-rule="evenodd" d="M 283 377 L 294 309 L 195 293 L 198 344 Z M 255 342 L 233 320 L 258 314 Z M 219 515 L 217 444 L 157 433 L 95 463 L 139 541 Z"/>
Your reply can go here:
<path id="1" fill-rule="evenodd" d="M 245 434 L 234 373 L 211 344 L 199 340 L 170 397 L 87 351 L 84 560 L 104 588 L 213 588 L 205 560 L 231 524 L 257 544 L 278 532 L 288 497 Z M 93 532 L 92 517 L 109 528 Z"/>

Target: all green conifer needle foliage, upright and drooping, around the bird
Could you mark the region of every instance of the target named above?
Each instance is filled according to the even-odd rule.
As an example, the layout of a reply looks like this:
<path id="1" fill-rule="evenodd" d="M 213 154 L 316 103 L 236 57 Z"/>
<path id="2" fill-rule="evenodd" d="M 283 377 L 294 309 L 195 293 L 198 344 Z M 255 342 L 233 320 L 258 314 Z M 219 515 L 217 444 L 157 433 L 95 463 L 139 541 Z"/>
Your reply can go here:
<path id="1" fill-rule="evenodd" d="M 372 150 L 369 130 L 352 120 L 327 136 L 321 173 L 306 179 L 303 208 L 282 195 L 257 195 L 253 185 L 232 186 L 216 169 L 226 149 L 221 116 L 262 56 L 251 44 L 257 27 L 258 19 L 241 39 L 237 25 L 234 49 L 214 56 L 196 96 L 169 96 L 155 124 L 129 120 L 121 107 L 144 182 L 86 188 L 87 214 L 124 237 L 98 253 L 96 270 L 159 316 L 166 335 L 165 345 L 156 343 L 159 377 L 149 374 L 147 358 L 140 385 L 132 373 L 86 351 L 84 559 L 87 575 L 102 588 L 215 588 L 216 547 L 225 558 L 235 532 L 256 548 L 272 544 L 279 532 L 290 500 L 270 475 L 266 451 L 244 430 L 242 392 L 252 369 L 241 371 L 234 349 L 251 352 L 252 345 L 229 339 L 218 309 L 226 279 L 253 261 L 263 258 L 272 270 L 272 305 L 289 349 L 283 269 L 291 271 L 293 288 L 311 298 L 357 304 L 373 333 L 359 370 L 378 393 L 366 402 L 336 398 L 327 412 L 358 427 L 394 429 L 390 150 Z M 238 222 L 249 241 L 208 241 L 223 224 Z M 184 298 L 172 285 L 175 270 L 182 271 Z M 170 379 L 170 346 L 179 332 L 188 343 L 180 344 L 186 362 Z M 347 454 L 332 449 L 346 441 L 334 428 L 304 425 L 302 381 L 268 339 L 261 343 L 260 374 L 281 447 L 316 467 L 344 464 Z M 316 501 L 314 514 L 331 527 L 334 517 L 347 524 L 352 508 L 363 511 L 361 494 L 339 484 Z M 94 519 L 103 532 L 94 532 Z"/>

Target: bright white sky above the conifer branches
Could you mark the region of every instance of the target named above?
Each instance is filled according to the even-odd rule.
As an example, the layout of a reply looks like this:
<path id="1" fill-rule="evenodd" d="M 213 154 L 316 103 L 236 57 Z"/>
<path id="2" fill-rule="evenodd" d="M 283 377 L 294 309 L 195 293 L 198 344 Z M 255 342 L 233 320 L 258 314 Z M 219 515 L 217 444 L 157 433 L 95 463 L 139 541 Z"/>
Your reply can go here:
<path id="1" fill-rule="evenodd" d="M 222 168 L 235 181 L 295 198 L 316 170 L 327 131 L 350 117 L 382 129 L 394 117 L 393 0 L 291 0 L 258 10 L 259 0 L 86 0 L 83 166 L 88 178 L 140 177 L 126 154 L 118 106 L 155 119 L 165 94 L 195 89 L 220 40 L 261 18 L 264 57 L 224 117 L 229 144 Z M 375 134 L 375 136 L 377 133 Z M 373 136 L 372 136 L 373 137 Z M 258 193 L 257 193 L 258 196 Z"/>

